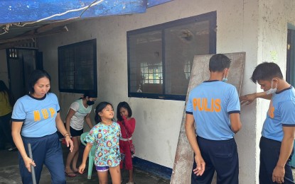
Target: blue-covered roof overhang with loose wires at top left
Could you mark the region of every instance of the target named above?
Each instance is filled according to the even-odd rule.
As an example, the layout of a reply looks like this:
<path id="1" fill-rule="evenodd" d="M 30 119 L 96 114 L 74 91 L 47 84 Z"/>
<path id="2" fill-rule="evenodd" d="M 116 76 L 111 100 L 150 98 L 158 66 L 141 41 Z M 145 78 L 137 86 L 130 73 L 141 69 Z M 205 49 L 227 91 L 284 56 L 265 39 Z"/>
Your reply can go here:
<path id="1" fill-rule="evenodd" d="M 0 1 L 0 49 L 68 31 L 82 18 L 145 13 L 173 0 L 10 0 Z"/>

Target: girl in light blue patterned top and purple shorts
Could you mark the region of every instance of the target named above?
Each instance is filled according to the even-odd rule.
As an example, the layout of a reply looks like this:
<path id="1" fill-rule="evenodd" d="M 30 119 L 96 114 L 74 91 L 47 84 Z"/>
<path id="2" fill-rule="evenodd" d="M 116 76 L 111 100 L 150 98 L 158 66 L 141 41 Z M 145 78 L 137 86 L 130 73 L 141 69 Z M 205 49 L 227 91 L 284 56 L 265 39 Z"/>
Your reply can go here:
<path id="1" fill-rule="evenodd" d="M 96 146 L 95 167 L 100 184 L 107 184 L 107 171 L 111 174 L 112 183 L 121 183 L 121 172 L 119 168 L 120 151 L 119 137 L 121 130 L 117 122 L 113 122 L 114 109 L 111 103 L 101 102 L 95 108 L 95 122 L 86 136 L 87 145 L 83 153 L 82 163 L 79 172 L 83 173 L 87 156 L 93 144 Z"/>

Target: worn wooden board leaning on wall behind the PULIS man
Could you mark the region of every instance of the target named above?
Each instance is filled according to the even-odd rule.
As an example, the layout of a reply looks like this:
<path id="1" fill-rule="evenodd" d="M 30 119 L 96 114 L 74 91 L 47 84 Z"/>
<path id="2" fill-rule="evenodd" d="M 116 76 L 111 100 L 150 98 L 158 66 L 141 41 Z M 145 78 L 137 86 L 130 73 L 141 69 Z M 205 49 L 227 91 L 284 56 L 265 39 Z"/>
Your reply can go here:
<path id="1" fill-rule="evenodd" d="M 232 59 L 230 64 L 230 72 L 228 74 L 228 83 L 234 85 L 237 88 L 237 92 L 240 95 L 242 85 L 242 75 L 245 65 L 245 52 L 236 52 L 225 54 Z M 188 93 L 186 96 L 186 102 L 188 100 L 188 94 L 190 91 L 206 81 L 210 77 L 209 72 L 209 60 L 213 54 L 208 55 L 196 55 L 193 59 L 193 67 L 191 69 L 191 78 L 188 84 Z M 188 184 L 191 183 L 191 169 L 193 167 L 193 150 L 186 137 L 185 130 L 186 122 L 186 105 L 183 110 L 183 118 L 181 122 L 181 131 L 178 137 L 178 144 L 176 148 L 176 156 L 173 165 L 173 172 L 171 176 L 172 184 Z"/>

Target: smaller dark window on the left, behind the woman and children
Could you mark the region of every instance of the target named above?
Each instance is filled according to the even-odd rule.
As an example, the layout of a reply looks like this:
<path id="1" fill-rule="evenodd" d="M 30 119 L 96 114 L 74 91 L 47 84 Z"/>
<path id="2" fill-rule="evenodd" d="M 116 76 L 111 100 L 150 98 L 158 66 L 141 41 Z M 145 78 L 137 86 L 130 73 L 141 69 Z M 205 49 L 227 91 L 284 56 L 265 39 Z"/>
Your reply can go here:
<path id="1" fill-rule="evenodd" d="M 58 47 L 61 92 L 97 91 L 96 39 Z"/>

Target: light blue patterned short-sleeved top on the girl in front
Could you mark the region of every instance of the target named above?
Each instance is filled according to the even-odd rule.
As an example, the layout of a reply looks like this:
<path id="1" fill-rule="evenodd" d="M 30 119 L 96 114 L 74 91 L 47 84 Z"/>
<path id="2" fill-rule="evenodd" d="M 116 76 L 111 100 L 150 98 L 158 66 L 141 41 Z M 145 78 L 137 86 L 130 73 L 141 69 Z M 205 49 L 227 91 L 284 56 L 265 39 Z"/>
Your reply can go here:
<path id="1" fill-rule="evenodd" d="M 85 141 L 96 146 L 95 166 L 115 167 L 119 165 L 121 161 L 120 137 L 121 130 L 117 122 L 112 122 L 111 125 L 104 125 L 100 122 L 92 127 Z"/>

